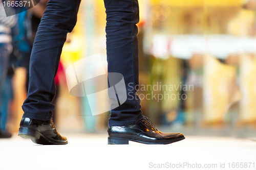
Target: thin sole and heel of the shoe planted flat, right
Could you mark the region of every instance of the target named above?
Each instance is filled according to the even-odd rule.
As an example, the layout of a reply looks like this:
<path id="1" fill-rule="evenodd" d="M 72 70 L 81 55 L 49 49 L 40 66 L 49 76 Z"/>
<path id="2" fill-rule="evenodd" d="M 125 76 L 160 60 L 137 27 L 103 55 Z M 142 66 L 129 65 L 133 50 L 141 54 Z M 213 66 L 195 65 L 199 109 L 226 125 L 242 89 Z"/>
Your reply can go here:
<path id="1" fill-rule="evenodd" d="M 162 141 L 162 142 L 147 142 L 147 141 L 131 139 L 131 138 L 108 137 L 108 144 L 129 144 L 129 141 L 135 141 L 143 144 L 170 144 L 170 143 L 174 143 L 184 139 L 185 137 L 168 140 L 168 141 Z"/>

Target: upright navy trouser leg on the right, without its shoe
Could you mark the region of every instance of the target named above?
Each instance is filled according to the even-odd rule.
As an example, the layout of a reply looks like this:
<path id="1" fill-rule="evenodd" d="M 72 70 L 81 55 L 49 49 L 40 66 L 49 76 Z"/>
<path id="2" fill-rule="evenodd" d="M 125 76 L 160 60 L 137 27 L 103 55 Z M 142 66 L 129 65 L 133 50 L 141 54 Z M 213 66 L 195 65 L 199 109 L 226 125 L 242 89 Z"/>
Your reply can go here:
<path id="1" fill-rule="evenodd" d="M 108 72 L 123 75 L 127 100 L 111 110 L 109 126 L 125 126 L 143 118 L 135 86 L 139 84 L 137 0 L 104 0 L 106 8 L 106 54 Z"/>

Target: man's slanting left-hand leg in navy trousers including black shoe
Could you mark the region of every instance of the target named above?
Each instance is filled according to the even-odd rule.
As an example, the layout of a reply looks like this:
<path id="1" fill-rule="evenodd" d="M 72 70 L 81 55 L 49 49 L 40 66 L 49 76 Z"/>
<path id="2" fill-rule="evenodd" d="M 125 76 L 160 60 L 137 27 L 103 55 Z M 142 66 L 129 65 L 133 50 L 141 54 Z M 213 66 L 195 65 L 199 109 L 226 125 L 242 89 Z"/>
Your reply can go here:
<path id="1" fill-rule="evenodd" d="M 40 144 L 67 144 L 52 123 L 54 77 L 67 33 L 76 24 L 80 0 L 50 0 L 36 33 L 29 70 L 28 96 L 19 136 Z M 49 132 L 47 132 L 49 131 Z M 39 132 L 39 133 L 38 133 Z"/>

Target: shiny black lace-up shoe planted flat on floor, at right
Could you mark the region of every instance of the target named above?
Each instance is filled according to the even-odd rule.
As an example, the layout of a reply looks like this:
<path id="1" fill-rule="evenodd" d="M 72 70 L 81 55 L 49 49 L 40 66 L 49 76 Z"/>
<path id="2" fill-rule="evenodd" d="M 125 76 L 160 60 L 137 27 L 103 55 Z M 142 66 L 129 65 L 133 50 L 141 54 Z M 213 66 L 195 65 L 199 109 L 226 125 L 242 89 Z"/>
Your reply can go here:
<path id="1" fill-rule="evenodd" d="M 144 144 L 169 144 L 185 139 L 181 133 L 160 132 L 146 116 L 135 125 L 111 126 L 108 134 L 108 144 L 129 144 L 129 140 Z"/>

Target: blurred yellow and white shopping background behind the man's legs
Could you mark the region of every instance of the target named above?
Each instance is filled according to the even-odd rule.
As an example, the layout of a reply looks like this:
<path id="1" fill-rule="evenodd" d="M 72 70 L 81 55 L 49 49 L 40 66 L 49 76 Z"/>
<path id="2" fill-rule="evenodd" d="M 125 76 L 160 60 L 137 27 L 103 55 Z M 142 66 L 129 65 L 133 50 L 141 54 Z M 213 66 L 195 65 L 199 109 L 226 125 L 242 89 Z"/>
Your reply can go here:
<path id="1" fill-rule="evenodd" d="M 39 6 L 43 9 L 44 3 Z M 256 1 L 139 0 L 139 6 L 138 95 L 143 114 L 163 131 L 256 136 Z M 32 8 L 15 17 L 0 117 L 2 131 L 11 133 L 18 131 L 23 115 L 28 56 L 41 14 Z M 69 65 L 98 53 L 106 69 L 105 17 L 102 0 L 82 1 L 77 25 L 63 47 L 54 100 L 60 132 L 106 133 L 110 112 L 92 116 L 86 97 L 69 94 L 65 76 Z M 160 99 L 152 98 L 154 94 Z"/>

